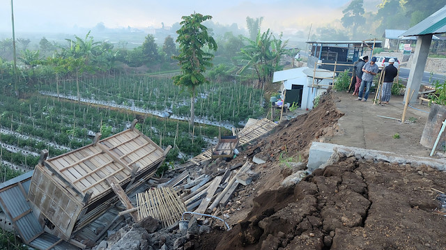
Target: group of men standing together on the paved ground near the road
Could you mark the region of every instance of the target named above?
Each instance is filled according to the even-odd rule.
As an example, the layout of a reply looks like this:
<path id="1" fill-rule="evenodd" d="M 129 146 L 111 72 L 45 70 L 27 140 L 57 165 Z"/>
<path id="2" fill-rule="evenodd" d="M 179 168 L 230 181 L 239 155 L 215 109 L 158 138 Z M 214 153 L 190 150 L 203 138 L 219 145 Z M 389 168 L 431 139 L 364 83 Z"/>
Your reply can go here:
<path id="1" fill-rule="evenodd" d="M 394 77 L 397 76 L 398 70 L 393 65 L 395 62 L 394 58 L 390 58 L 389 65 L 384 68 L 383 74 L 383 91 L 381 95 L 381 102 L 383 104 L 389 104 L 390 96 L 392 95 L 392 84 L 394 81 Z M 369 56 L 360 56 L 360 58 L 353 63 L 353 77 L 352 84 L 348 89 L 347 93 L 350 93 L 351 89 L 354 91 L 353 95 L 357 95 L 357 100 L 362 102 L 367 102 L 369 98 L 369 92 L 371 83 L 376 74 L 378 74 L 379 68 L 376 65 L 376 57 L 372 57 L 369 61 Z M 364 93 L 365 88 L 365 93 Z"/>

